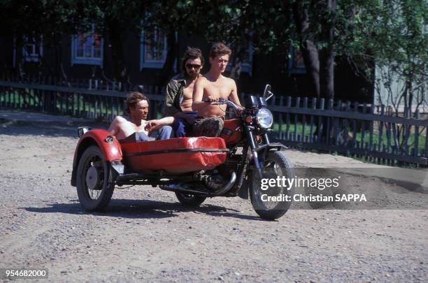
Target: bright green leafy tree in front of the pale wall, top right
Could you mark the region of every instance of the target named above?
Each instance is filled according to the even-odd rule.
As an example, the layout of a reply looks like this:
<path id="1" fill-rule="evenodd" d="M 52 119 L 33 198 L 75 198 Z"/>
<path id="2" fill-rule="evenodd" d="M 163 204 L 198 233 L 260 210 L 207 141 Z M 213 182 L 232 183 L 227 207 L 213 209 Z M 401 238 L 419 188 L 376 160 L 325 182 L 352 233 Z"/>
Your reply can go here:
<path id="1" fill-rule="evenodd" d="M 379 91 L 380 85 L 389 89 L 396 115 L 401 102 L 406 115 L 427 103 L 427 22 L 428 3 L 418 0 L 373 1 L 357 15 L 357 44 L 350 49 L 363 70 L 367 70 L 367 61 L 376 62 L 376 89 Z M 394 82 L 402 82 L 402 89 L 392 89 Z"/>

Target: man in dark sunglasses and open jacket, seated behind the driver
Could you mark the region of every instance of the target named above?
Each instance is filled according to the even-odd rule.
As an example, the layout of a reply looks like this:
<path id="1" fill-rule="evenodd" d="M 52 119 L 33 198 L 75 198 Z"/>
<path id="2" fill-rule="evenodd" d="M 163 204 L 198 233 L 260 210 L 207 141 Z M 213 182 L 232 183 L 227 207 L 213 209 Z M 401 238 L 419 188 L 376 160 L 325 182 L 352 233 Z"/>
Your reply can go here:
<path id="1" fill-rule="evenodd" d="M 197 114 L 192 111 L 193 86 L 203 66 L 201 50 L 188 47 L 181 63 L 182 73 L 173 77 L 166 86 L 164 115 L 175 118 L 172 127 L 176 138 L 192 131 Z"/>

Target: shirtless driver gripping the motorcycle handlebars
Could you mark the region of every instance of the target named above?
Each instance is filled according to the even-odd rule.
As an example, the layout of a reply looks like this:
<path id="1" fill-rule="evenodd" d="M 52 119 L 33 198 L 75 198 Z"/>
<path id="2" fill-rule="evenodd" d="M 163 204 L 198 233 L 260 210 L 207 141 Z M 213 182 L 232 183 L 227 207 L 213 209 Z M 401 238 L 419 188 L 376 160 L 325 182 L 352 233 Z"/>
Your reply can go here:
<path id="1" fill-rule="evenodd" d="M 192 109 L 198 112 L 193 124 L 194 136 L 220 136 L 226 106 L 211 105 L 211 102 L 229 99 L 238 106 L 241 105 L 235 81 L 222 75 L 230 55 L 231 50 L 226 45 L 215 43 L 209 54 L 210 71 L 198 78 L 194 84 Z"/>

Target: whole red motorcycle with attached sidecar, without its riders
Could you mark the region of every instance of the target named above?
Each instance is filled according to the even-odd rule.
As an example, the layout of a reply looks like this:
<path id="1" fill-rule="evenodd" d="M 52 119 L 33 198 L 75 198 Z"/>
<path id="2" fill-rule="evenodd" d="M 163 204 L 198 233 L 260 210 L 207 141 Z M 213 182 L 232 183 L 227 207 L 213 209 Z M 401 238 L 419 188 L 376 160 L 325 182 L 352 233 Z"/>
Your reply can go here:
<path id="1" fill-rule="evenodd" d="M 268 131 L 273 115 L 267 102 L 273 93 L 248 96 L 245 108 L 233 101 L 211 102 L 229 106 L 237 117 L 224 120 L 220 137 L 171 138 L 123 143 L 104 129 L 80 127 L 71 185 L 87 211 L 104 210 L 115 188 L 152 185 L 173 191 L 183 205 L 197 207 L 206 198 L 224 196 L 248 199 L 259 217 L 278 219 L 290 208 L 294 187 L 262 180 L 292 178 L 286 147 L 271 143 Z M 278 201 L 280 200 L 280 201 Z"/>

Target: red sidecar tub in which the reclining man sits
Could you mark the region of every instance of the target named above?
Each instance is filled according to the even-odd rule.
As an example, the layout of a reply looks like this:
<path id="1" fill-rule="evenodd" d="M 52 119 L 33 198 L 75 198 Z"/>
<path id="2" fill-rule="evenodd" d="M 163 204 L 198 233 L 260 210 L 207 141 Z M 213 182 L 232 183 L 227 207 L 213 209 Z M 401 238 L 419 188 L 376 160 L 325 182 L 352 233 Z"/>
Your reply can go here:
<path id="1" fill-rule="evenodd" d="M 226 161 L 222 138 L 170 138 L 148 142 L 121 143 L 126 164 L 134 173 L 165 170 L 187 173 L 211 169 Z"/>

